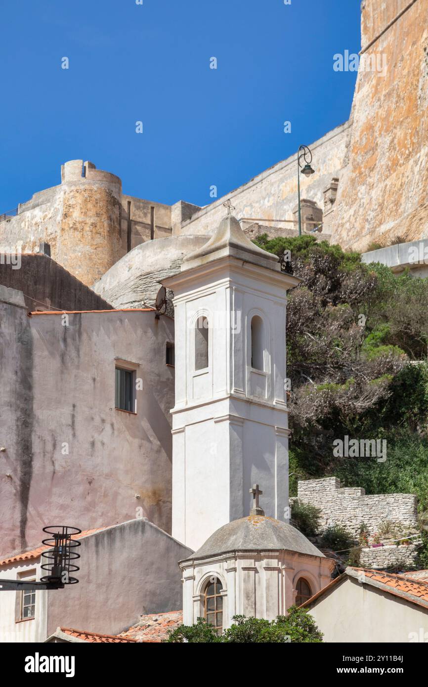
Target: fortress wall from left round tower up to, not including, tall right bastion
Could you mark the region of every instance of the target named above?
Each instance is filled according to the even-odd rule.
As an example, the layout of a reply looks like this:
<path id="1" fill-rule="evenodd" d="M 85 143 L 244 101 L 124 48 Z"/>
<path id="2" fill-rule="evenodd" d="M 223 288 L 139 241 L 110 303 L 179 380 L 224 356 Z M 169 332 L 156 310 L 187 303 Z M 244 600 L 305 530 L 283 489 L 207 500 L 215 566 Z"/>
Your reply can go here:
<path id="1" fill-rule="evenodd" d="M 326 208 L 332 215 L 337 190 L 334 180 L 346 155 L 349 127 L 338 127 L 312 146 L 319 173 L 301 180 L 304 231 L 310 232 L 317 224 L 321 229 Z M 166 205 L 126 195 L 115 174 L 98 170 L 89 161 L 71 160 L 61 166 L 60 185 L 37 192 L 30 201 L 20 203 L 15 216 L 0 215 L 0 248 L 21 242 L 23 253 L 34 253 L 40 243 L 48 243 L 56 262 L 92 286 L 135 247 L 148 241 L 193 236 L 194 245 L 190 245 L 189 252 L 196 249 L 201 243 L 196 237 L 210 235 L 212 227 L 223 218 L 223 203 L 229 197 L 236 205 L 234 214 L 242 218 L 241 226 L 250 238 L 264 233 L 272 238 L 295 236 L 295 156 L 205 208 L 185 201 Z M 275 223 L 275 219 L 288 221 Z M 317 238 L 328 240 L 326 232 L 324 227 Z M 153 251 L 158 265 L 164 265 L 155 245 Z M 146 251 L 145 257 L 149 258 L 149 253 Z M 153 262 L 151 257 L 149 262 Z M 146 271 L 145 264 L 140 264 L 139 269 Z"/>

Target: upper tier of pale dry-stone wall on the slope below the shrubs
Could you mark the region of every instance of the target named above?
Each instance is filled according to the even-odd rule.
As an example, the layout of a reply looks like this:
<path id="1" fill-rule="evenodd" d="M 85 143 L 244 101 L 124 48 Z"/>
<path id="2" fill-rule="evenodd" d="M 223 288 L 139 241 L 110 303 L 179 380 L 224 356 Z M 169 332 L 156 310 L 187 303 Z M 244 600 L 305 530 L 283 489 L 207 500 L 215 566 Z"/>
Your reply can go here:
<path id="1" fill-rule="evenodd" d="M 360 487 L 341 488 L 337 477 L 305 480 L 297 484 L 297 499 L 313 504 L 322 512 L 322 530 L 341 524 L 358 537 L 361 523 L 374 534 L 388 520 L 416 528 L 416 496 L 413 494 L 365 495 Z M 290 499 L 291 500 L 291 499 Z"/>

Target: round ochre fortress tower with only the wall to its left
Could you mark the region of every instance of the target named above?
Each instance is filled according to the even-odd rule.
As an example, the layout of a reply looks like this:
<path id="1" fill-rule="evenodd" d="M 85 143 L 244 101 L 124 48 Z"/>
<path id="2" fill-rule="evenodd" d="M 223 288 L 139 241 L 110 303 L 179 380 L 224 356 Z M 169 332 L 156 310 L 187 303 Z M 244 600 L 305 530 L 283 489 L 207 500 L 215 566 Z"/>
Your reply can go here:
<path id="1" fill-rule="evenodd" d="M 0 223 L 0 247 L 21 242 L 23 252 L 34 253 L 49 243 L 52 258 L 90 286 L 120 255 L 122 183 L 82 160 L 66 162 L 61 181 Z"/>

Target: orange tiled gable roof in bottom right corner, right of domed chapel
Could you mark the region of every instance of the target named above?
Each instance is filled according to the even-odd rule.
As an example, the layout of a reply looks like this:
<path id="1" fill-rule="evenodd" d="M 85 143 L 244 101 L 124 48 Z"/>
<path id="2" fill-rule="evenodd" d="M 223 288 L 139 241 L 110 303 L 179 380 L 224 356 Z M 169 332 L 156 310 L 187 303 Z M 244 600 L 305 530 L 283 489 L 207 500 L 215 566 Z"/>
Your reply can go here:
<path id="1" fill-rule="evenodd" d="M 419 572 L 425 574 L 426 571 L 414 571 L 414 575 L 416 576 Z M 361 573 L 364 575 L 363 578 L 361 578 Z M 347 567 L 343 574 L 304 602 L 302 607 L 311 607 L 320 596 L 330 592 L 339 583 L 343 582 L 347 576 L 357 578 L 365 585 L 372 585 L 388 594 L 392 594 L 392 596 L 398 596 L 428 609 L 428 580 L 416 578 L 415 576 L 410 577 L 408 573 L 396 575 L 391 572 L 370 570 L 364 567 Z"/>

